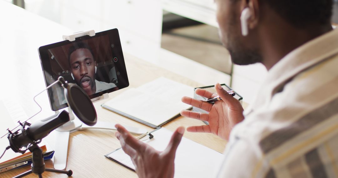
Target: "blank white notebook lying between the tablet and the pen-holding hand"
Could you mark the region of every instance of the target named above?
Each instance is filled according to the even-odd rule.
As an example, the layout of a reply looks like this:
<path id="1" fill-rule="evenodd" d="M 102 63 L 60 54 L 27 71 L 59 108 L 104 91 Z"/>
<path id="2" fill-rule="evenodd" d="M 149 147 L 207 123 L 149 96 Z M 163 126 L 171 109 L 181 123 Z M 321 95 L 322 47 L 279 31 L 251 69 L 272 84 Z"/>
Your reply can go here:
<path id="1" fill-rule="evenodd" d="M 161 77 L 124 91 L 102 107 L 156 128 L 175 118 L 181 110 L 191 108 L 181 98 L 193 95 L 193 87 Z"/>

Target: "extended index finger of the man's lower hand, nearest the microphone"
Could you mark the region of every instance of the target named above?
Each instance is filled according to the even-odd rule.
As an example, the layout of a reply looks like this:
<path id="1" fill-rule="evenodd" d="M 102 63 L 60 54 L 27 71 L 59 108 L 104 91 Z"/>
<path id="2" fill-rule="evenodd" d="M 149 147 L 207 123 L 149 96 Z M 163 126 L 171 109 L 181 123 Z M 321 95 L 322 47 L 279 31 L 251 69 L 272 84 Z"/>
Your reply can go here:
<path id="1" fill-rule="evenodd" d="M 132 149 L 136 150 L 136 151 L 141 151 L 140 149 L 143 148 L 142 146 L 142 142 L 137 140 L 136 138 L 134 138 L 128 131 L 127 129 L 125 129 L 122 125 L 120 124 L 116 124 L 115 128 L 117 128 L 117 130 L 120 133 L 120 142 L 121 139 L 123 139 L 123 141 L 125 142 L 126 145 L 129 145 Z"/>

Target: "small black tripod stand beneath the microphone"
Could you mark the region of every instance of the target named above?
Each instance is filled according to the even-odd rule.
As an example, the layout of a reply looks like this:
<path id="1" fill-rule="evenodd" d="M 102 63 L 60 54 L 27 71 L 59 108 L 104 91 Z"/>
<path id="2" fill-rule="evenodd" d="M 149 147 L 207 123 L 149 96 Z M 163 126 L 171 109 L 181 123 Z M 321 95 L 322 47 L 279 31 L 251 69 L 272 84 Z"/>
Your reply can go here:
<path id="1" fill-rule="evenodd" d="M 62 174 L 67 174 L 67 176 L 72 176 L 73 171 L 72 170 L 58 170 L 58 169 L 51 169 L 51 168 L 46 168 L 45 167 L 45 161 L 43 159 L 43 153 L 42 149 L 37 145 L 33 144 L 28 148 L 28 150 L 32 153 L 32 165 L 31 165 L 31 170 L 26 171 L 22 174 L 19 174 L 15 176 L 14 178 L 20 178 L 27 176 L 31 173 L 34 173 L 39 176 L 39 178 L 42 178 L 42 173 L 47 171 L 47 172 L 54 172 L 54 173 L 62 173 Z"/>

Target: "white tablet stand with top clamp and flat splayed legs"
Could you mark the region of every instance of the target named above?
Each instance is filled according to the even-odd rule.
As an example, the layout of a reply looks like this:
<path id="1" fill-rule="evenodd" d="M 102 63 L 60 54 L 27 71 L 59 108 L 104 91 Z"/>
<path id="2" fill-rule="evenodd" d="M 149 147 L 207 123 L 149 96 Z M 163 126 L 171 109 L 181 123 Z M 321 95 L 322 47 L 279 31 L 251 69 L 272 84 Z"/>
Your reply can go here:
<path id="1" fill-rule="evenodd" d="M 64 40 L 74 41 L 75 38 L 80 37 L 80 36 L 85 36 L 85 35 L 94 36 L 95 31 L 94 30 L 81 31 L 81 32 L 73 33 L 71 35 L 63 35 L 62 37 Z M 108 98 L 108 93 L 105 93 L 100 97 L 93 98 L 92 101 L 96 102 L 98 100 L 106 99 L 106 98 Z M 56 111 L 56 112 L 59 112 L 59 111 Z M 70 121 L 58 127 L 56 129 L 56 134 L 55 134 L 54 168 L 59 169 L 59 170 L 66 169 L 68 141 L 69 141 L 70 132 L 87 129 L 87 128 L 101 128 L 101 129 L 116 130 L 115 123 L 111 123 L 111 122 L 98 121 L 94 126 L 88 126 L 84 124 L 82 125 L 82 122 L 76 116 L 74 116 L 70 107 L 68 107 L 68 112 L 69 112 Z M 135 128 L 135 127 L 126 126 L 126 125 L 124 125 L 124 127 L 129 132 L 137 134 L 137 135 L 141 135 L 147 132 L 146 129 L 142 129 L 142 128 Z"/>

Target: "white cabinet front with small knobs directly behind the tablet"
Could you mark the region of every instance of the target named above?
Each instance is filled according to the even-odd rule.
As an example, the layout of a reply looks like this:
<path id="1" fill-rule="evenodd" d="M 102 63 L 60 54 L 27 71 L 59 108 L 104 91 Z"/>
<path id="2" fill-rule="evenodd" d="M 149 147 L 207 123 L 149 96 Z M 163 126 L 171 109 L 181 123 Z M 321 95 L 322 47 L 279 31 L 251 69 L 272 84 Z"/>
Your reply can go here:
<path id="1" fill-rule="evenodd" d="M 155 60 L 151 51 L 161 46 L 158 0 L 25 0 L 25 6 L 74 32 L 118 28 L 123 51 L 149 61 Z"/>

